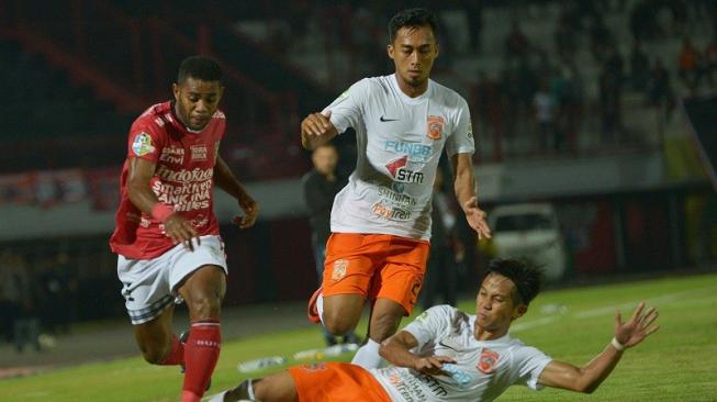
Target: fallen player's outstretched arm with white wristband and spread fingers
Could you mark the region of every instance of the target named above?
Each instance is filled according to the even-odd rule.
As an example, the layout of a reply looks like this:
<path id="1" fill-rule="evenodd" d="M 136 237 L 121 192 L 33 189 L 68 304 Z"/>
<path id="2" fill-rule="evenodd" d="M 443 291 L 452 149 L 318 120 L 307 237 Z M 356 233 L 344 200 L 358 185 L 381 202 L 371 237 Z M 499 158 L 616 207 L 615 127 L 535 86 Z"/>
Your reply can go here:
<path id="1" fill-rule="evenodd" d="M 617 366 L 625 349 L 638 345 L 658 331 L 659 326 L 652 325 L 657 317 L 654 308 L 645 311 L 645 302 L 637 306 L 630 320 L 625 323 L 619 311 L 616 311 L 615 337 L 605 350 L 583 367 L 553 360 L 542 370 L 538 383 L 585 393 L 595 391 Z"/>

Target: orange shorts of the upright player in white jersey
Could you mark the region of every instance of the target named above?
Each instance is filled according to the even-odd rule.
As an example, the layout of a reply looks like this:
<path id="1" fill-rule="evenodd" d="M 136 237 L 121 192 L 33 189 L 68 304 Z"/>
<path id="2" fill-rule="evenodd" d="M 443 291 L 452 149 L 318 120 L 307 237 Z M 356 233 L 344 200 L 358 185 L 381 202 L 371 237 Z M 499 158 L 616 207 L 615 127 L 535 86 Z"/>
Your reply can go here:
<path id="1" fill-rule="evenodd" d="M 326 244 L 324 295 L 389 299 L 411 314 L 418 299 L 430 245 L 426 241 L 361 233 L 333 233 Z"/>

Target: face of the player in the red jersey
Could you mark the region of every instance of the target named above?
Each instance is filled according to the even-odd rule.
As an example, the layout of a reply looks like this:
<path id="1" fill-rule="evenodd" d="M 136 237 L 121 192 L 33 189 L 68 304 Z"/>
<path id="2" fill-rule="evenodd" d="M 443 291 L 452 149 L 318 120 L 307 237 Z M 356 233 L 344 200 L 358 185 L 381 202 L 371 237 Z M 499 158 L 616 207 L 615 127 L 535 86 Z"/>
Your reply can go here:
<path id="1" fill-rule="evenodd" d="M 219 81 L 202 81 L 192 77 L 172 85 L 176 112 L 179 120 L 191 130 L 202 130 L 220 104 L 224 87 Z"/>

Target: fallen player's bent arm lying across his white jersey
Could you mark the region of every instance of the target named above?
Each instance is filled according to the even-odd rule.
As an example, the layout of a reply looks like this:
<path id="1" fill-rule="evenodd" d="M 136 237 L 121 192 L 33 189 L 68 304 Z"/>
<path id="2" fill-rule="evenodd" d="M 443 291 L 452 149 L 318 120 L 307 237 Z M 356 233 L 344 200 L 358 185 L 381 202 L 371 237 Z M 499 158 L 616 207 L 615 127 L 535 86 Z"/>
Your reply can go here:
<path id="1" fill-rule="evenodd" d="M 379 354 L 394 366 L 412 368 L 425 375 L 445 375 L 444 364 L 456 362 L 447 356 L 421 357 L 411 353 L 418 340 L 410 332 L 400 331 L 381 343 Z"/>

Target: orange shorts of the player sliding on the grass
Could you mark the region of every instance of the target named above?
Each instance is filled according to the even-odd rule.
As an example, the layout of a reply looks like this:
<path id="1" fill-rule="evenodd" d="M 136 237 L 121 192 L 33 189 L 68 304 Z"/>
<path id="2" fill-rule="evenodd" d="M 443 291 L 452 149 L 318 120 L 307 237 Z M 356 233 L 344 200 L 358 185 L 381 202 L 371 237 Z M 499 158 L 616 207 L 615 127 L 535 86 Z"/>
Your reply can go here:
<path id="1" fill-rule="evenodd" d="M 289 368 L 299 401 L 391 402 L 379 381 L 360 366 L 316 362 Z"/>

